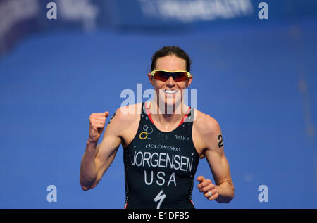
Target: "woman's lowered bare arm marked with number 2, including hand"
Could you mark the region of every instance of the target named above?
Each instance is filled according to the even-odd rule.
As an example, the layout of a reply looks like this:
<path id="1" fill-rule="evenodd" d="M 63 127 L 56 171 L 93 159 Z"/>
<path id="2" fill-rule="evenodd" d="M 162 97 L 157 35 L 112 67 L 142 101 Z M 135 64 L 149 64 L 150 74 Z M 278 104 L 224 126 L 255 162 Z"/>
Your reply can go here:
<path id="1" fill-rule="evenodd" d="M 201 131 L 201 139 L 204 140 L 204 156 L 209 163 L 215 184 L 210 179 L 199 176 L 197 180 L 199 191 L 209 200 L 216 200 L 218 203 L 229 203 L 235 196 L 230 168 L 223 151 L 223 136 L 218 122 L 207 115 L 204 131 Z M 209 193 L 211 191 L 211 193 Z M 210 194 L 212 194 L 210 196 Z M 209 197 L 210 196 L 210 197 Z"/>

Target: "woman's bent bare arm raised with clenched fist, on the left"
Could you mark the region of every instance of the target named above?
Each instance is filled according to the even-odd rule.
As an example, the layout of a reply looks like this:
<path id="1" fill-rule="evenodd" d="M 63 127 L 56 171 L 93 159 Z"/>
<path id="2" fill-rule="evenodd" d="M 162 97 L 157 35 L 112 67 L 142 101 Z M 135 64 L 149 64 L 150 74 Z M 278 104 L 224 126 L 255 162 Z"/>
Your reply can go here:
<path id="1" fill-rule="evenodd" d="M 93 189 L 99 183 L 104 172 L 113 162 L 122 142 L 120 132 L 124 128 L 124 122 L 120 121 L 123 114 L 118 109 L 116 116 L 111 120 L 111 124 L 106 127 L 104 138 L 97 145 L 108 115 L 109 113 L 105 112 L 92 113 L 89 116 L 89 139 L 80 165 L 80 185 L 84 191 Z"/>

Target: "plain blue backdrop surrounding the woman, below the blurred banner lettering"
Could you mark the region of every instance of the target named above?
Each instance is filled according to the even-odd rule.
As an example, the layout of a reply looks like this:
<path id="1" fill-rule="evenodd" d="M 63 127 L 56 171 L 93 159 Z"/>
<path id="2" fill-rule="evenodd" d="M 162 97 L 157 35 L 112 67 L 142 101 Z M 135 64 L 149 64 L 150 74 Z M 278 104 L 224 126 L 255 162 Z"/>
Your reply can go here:
<path id="1" fill-rule="evenodd" d="M 151 56 L 168 45 L 192 58 L 189 89 L 220 124 L 235 185 L 220 204 L 195 181 L 196 208 L 316 208 L 317 16 L 256 16 L 174 30 L 125 29 L 122 17 L 108 29 L 24 37 L 0 59 L 0 208 L 123 208 L 121 146 L 98 186 L 80 187 L 89 115 L 114 113 L 137 83 L 151 89 Z M 198 175 L 212 179 L 205 159 Z M 51 184 L 56 203 L 46 200 Z M 267 203 L 258 200 L 263 184 Z"/>

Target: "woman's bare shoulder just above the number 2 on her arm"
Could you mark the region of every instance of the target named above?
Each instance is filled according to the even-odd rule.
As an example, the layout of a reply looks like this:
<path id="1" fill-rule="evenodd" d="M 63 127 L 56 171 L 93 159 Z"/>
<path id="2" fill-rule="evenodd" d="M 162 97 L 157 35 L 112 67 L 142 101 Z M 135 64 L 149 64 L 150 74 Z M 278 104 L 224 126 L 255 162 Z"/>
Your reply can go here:
<path id="1" fill-rule="evenodd" d="M 196 117 L 193 127 L 199 135 L 210 136 L 211 134 L 218 134 L 220 132 L 220 126 L 216 119 L 197 109 L 195 109 L 195 113 Z"/>

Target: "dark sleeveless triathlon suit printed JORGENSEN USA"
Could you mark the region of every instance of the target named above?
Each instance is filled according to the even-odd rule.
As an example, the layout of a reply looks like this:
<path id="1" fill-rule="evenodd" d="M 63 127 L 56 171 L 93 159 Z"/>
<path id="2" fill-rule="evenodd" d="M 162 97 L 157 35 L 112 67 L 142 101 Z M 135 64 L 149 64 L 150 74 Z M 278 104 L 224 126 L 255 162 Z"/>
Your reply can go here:
<path id="1" fill-rule="evenodd" d="M 145 111 L 145 112 L 144 112 Z M 192 142 L 194 109 L 180 125 L 161 132 L 142 103 L 137 134 L 124 149 L 125 208 L 189 209 L 199 155 Z"/>

